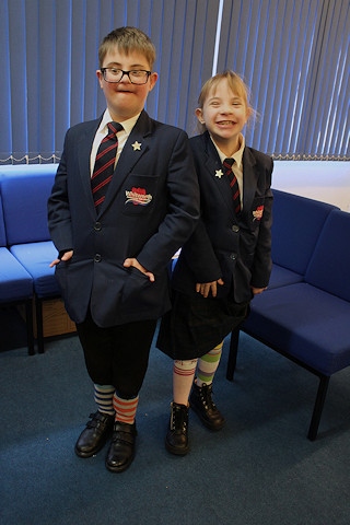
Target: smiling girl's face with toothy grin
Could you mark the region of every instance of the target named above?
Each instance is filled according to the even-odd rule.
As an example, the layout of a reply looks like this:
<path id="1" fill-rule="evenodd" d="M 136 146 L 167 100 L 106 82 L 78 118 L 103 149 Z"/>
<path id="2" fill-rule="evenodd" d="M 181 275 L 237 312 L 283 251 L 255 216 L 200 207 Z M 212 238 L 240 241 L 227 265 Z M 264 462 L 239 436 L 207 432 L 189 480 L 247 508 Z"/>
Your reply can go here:
<path id="1" fill-rule="evenodd" d="M 238 149 L 238 137 L 250 112 L 245 101 L 233 93 L 228 81 L 223 79 L 209 92 L 203 107 L 197 108 L 196 115 L 198 120 L 205 124 L 214 142 L 219 147 L 230 144 L 234 153 Z"/>

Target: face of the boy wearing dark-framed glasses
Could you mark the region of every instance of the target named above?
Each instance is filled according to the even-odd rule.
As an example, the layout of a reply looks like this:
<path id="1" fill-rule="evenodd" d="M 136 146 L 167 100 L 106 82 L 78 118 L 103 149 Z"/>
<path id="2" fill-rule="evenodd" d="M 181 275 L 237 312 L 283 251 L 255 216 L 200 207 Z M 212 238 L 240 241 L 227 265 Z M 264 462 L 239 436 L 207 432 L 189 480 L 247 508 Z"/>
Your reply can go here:
<path id="1" fill-rule="evenodd" d="M 129 55 L 125 55 L 117 47 L 107 52 L 103 67 L 122 69 L 124 71 L 150 71 L 150 65 L 142 52 L 131 51 Z M 121 78 L 120 82 L 116 83 L 106 82 L 100 69 L 96 74 L 100 86 L 105 94 L 110 116 L 118 122 L 135 117 L 143 109 L 147 96 L 158 80 L 158 73 L 152 73 L 145 84 L 138 85 L 131 84 L 127 74 Z"/>

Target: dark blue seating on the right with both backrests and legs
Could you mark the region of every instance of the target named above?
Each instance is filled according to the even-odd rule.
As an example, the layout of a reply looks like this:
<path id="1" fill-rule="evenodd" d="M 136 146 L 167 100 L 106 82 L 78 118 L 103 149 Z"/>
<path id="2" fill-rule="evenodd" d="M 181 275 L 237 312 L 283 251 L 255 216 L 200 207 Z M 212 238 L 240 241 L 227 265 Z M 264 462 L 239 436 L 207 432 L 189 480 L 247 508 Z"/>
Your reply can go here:
<path id="1" fill-rule="evenodd" d="M 252 301 L 240 329 L 319 377 L 307 434 L 313 441 L 330 376 L 350 365 L 350 213 L 273 194 L 271 283 Z M 230 381 L 240 329 L 231 336 Z"/>

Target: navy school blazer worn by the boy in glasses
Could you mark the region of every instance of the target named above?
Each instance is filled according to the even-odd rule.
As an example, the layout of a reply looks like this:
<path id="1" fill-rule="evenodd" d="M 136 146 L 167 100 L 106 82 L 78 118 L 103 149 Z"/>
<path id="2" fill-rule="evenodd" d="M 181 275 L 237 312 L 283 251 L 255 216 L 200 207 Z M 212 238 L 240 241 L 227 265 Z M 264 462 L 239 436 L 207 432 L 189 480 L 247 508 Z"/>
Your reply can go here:
<path id="1" fill-rule="evenodd" d="M 199 217 L 199 190 L 185 131 L 143 110 L 117 163 L 97 214 L 90 154 L 101 119 L 67 131 L 48 200 L 48 223 L 59 253 L 56 266 L 68 313 L 75 323 L 89 305 L 100 326 L 154 319 L 170 308 L 168 262 Z M 136 257 L 155 282 L 122 262 Z"/>

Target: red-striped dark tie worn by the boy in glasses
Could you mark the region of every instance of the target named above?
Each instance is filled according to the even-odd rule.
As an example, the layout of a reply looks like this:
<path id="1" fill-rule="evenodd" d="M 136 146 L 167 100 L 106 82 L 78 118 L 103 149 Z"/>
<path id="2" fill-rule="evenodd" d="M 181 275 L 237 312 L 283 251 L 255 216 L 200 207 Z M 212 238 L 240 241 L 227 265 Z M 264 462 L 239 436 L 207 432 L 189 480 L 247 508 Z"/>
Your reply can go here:
<path id="1" fill-rule="evenodd" d="M 122 129 L 119 122 L 108 122 L 108 135 L 102 139 L 91 177 L 91 189 L 96 211 L 105 200 L 107 187 L 112 180 L 118 149 L 117 132 Z"/>

